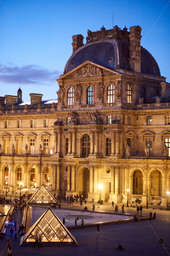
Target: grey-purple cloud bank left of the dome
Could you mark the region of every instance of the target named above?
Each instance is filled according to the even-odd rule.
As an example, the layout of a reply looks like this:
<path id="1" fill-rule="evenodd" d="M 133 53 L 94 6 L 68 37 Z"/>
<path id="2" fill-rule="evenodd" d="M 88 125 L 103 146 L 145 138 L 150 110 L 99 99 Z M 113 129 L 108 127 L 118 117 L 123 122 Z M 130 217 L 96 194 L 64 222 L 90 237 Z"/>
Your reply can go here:
<path id="1" fill-rule="evenodd" d="M 8 65 L 0 64 L 0 82 L 16 84 L 21 80 L 21 84 L 52 84 L 55 83 L 58 75 L 62 72 L 45 69 L 38 65 L 24 65 L 18 67 L 12 63 Z"/>

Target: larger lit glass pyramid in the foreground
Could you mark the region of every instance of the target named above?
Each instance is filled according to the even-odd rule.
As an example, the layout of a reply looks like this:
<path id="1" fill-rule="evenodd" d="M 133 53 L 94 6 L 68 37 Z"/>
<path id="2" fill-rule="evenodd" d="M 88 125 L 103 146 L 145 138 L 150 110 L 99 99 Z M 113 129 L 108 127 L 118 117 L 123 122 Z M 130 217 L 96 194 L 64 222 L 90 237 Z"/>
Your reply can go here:
<path id="1" fill-rule="evenodd" d="M 73 235 L 64 226 L 61 220 L 48 208 L 32 227 L 21 237 L 20 246 L 35 242 L 35 236 L 41 235 L 42 243 L 68 243 L 78 245 Z"/>

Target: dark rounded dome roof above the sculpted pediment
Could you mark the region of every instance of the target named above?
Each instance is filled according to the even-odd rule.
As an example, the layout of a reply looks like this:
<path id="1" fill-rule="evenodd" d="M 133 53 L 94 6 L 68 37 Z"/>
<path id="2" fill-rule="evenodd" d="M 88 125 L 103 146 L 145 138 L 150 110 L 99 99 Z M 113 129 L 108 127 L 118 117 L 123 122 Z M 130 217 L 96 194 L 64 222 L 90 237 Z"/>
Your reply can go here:
<path id="1" fill-rule="evenodd" d="M 64 74 L 90 60 L 106 68 L 130 69 L 130 42 L 125 40 L 100 40 L 85 44 L 76 50 L 66 63 Z M 110 58 L 113 58 L 111 61 Z M 141 73 L 160 76 L 159 67 L 153 56 L 141 47 Z"/>

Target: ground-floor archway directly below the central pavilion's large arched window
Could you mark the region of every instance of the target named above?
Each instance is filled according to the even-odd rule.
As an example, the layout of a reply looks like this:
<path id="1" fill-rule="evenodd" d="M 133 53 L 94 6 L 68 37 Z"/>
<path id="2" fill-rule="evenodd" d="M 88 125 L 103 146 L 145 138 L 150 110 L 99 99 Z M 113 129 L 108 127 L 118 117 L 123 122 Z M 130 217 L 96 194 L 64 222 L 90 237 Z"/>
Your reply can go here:
<path id="1" fill-rule="evenodd" d="M 85 194 L 90 191 L 90 171 L 83 168 L 79 173 L 79 194 Z"/>

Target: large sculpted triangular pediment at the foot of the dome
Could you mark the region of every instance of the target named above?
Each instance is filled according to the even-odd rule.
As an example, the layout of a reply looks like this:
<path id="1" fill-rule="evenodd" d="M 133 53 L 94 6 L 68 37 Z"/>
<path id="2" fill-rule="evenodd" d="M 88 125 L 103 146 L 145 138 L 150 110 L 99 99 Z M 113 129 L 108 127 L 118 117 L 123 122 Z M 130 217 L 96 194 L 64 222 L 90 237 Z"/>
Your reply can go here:
<path id="1" fill-rule="evenodd" d="M 94 62 L 87 60 L 78 67 L 72 69 L 65 75 L 60 76 L 57 81 L 62 79 L 80 78 L 80 77 L 95 77 L 95 76 L 107 76 L 107 75 L 118 75 L 119 73 L 109 68 L 105 68 Z"/>

